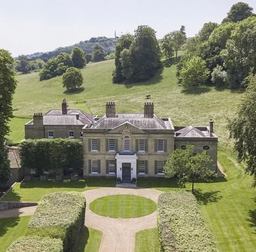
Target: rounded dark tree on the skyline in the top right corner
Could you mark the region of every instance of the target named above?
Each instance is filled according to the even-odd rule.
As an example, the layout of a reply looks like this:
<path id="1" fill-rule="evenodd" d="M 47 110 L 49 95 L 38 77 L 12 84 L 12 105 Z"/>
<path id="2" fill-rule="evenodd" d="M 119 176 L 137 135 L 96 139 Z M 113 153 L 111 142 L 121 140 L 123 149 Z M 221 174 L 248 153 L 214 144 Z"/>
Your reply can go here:
<path id="1" fill-rule="evenodd" d="M 255 16 L 253 8 L 247 3 L 238 2 L 232 5 L 230 11 L 227 12 L 227 17 L 223 19 L 223 23 L 239 22 L 251 16 Z"/>

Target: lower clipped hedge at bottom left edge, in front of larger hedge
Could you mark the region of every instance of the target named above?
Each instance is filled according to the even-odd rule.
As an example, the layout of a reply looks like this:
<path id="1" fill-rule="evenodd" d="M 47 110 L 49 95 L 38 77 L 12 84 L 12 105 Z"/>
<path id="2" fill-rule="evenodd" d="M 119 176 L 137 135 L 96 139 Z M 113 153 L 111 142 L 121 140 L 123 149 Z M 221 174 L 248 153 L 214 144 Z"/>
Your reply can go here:
<path id="1" fill-rule="evenodd" d="M 13 242 L 7 252 L 62 252 L 63 245 L 60 239 L 50 237 L 24 236 Z"/>

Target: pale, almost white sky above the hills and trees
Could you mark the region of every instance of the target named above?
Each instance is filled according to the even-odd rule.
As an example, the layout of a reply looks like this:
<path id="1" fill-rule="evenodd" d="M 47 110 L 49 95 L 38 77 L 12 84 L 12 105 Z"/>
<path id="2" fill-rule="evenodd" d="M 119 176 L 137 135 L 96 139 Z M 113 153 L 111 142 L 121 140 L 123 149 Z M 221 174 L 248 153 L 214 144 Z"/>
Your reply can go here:
<path id="1" fill-rule="evenodd" d="M 114 37 L 149 25 L 157 38 L 185 25 L 187 37 L 226 17 L 233 0 L 0 0 L 0 48 L 20 54 L 48 52 L 91 37 Z M 256 1 L 246 0 L 254 12 Z"/>

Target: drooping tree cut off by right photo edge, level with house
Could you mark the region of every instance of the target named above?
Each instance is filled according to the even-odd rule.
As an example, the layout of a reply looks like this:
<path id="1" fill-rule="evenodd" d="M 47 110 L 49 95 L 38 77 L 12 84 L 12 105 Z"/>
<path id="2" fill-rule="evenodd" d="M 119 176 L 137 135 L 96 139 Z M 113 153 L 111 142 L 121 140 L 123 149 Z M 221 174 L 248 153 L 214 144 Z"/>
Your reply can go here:
<path id="1" fill-rule="evenodd" d="M 254 178 L 256 186 L 256 76 L 251 75 L 244 97 L 238 105 L 235 117 L 228 121 L 230 137 L 234 138 L 234 150 L 239 162 L 246 162 L 246 172 Z"/>

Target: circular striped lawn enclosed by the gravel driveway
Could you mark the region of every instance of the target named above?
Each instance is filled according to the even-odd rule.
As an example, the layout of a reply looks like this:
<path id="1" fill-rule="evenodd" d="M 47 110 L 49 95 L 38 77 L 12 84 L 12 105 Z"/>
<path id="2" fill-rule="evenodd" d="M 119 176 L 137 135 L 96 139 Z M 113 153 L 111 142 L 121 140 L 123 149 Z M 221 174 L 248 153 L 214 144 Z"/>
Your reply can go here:
<path id="1" fill-rule="evenodd" d="M 110 195 L 93 200 L 89 205 L 92 212 L 111 218 L 136 218 L 156 211 L 157 204 L 135 195 Z"/>

